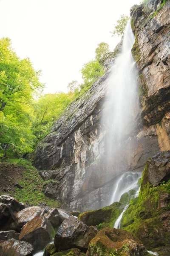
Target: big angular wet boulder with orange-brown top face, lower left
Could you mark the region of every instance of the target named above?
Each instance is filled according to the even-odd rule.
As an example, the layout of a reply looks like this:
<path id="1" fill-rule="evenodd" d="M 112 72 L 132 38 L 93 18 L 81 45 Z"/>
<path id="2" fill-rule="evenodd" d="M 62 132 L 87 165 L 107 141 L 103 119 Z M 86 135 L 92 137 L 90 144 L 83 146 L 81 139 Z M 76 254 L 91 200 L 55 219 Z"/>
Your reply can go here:
<path id="1" fill-rule="evenodd" d="M 38 216 L 23 226 L 19 240 L 34 246 L 34 252 L 42 250 L 54 237 L 55 231 L 50 221 L 44 216 Z"/>

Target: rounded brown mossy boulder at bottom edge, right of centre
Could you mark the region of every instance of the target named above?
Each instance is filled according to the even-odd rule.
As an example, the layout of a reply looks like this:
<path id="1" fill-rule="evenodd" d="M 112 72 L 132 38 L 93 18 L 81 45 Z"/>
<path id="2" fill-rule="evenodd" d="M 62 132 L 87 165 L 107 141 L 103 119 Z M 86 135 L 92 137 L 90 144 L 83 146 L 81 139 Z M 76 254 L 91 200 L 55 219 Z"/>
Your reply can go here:
<path id="1" fill-rule="evenodd" d="M 91 240 L 86 256 L 136 255 L 146 256 L 144 246 L 132 234 L 125 230 L 105 228 Z"/>

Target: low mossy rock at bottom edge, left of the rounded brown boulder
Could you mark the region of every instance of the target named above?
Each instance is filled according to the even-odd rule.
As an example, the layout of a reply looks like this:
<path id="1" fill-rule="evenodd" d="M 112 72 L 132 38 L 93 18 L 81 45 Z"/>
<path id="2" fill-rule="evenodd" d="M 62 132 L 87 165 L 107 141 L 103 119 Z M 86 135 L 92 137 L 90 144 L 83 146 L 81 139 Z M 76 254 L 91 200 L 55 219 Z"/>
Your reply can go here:
<path id="1" fill-rule="evenodd" d="M 77 248 L 57 252 L 54 244 L 48 244 L 45 247 L 43 256 L 85 256 L 85 253 Z"/>

